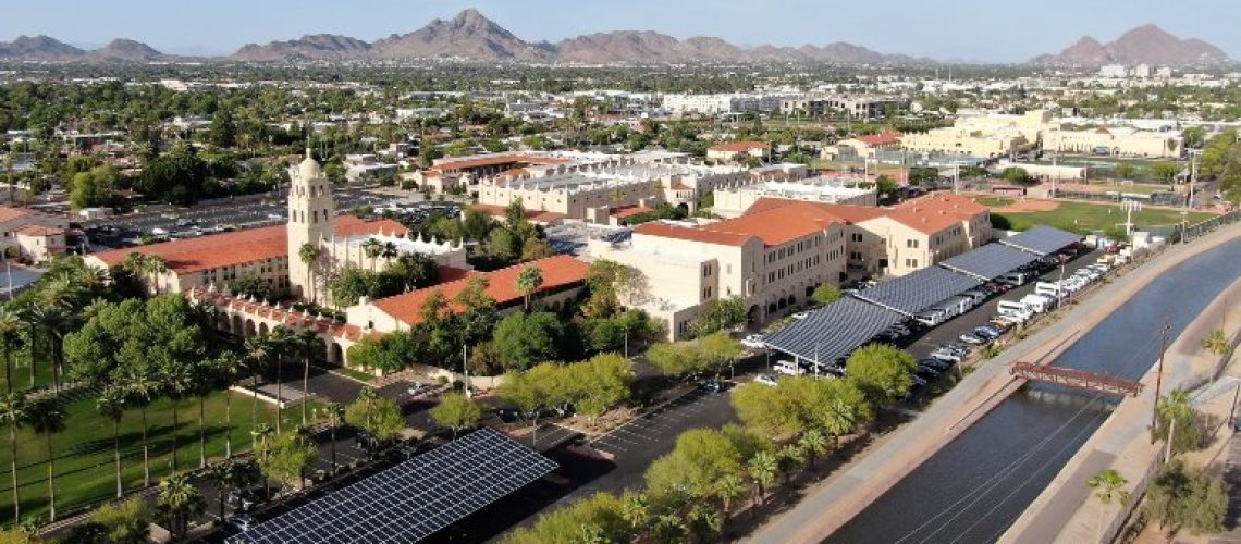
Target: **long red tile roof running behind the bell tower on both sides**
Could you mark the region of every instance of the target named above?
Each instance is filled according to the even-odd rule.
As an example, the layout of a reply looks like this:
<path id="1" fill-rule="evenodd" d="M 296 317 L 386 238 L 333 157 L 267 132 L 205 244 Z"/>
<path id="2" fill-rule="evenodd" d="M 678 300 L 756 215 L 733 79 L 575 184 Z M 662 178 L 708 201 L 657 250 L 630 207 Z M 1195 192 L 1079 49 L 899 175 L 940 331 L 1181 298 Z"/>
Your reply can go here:
<path id="1" fill-rule="evenodd" d="M 354 216 L 336 218 L 338 235 L 407 234 L 410 230 L 391 219 L 362 221 Z M 285 226 L 252 228 L 201 238 L 139 245 L 94 253 L 108 266 L 124 263 L 130 253 L 159 255 L 177 274 L 233 266 L 288 255 Z"/>

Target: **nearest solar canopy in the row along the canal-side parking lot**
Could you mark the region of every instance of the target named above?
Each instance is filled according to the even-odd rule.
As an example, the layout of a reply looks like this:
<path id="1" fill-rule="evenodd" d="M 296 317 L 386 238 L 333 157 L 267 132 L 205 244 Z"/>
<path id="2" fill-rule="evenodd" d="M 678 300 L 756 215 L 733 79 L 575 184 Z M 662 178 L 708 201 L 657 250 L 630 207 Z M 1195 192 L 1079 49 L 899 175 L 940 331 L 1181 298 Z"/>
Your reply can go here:
<path id="1" fill-rule="evenodd" d="M 880 306 L 844 297 L 768 335 L 763 342 L 807 361 L 829 363 L 903 318 Z"/>

